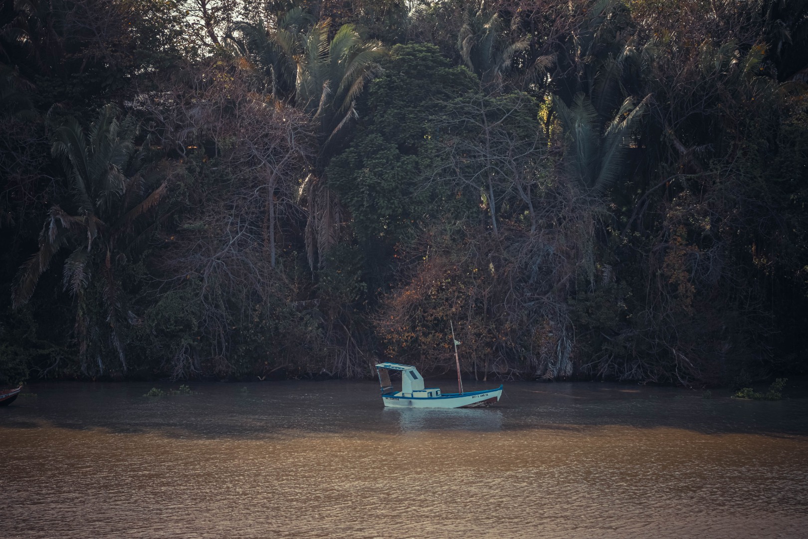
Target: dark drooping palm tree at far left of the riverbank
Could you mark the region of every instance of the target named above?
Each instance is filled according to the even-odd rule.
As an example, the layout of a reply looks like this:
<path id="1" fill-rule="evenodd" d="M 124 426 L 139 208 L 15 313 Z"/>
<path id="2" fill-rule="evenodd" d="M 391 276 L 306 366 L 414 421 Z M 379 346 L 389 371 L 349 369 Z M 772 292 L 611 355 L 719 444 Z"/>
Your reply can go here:
<path id="1" fill-rule="evenodd" d="M 62 249 L 70 251 L 63 282 L 65 290 L 78 300 L 75 328 L 85 372 L 90 335 L 102 332 L 109 335 L 122 368 L 126 368 L 121 337 L 133 315 L 124 307 L 117 272 L 132 257 L 138 240 L 154 229 L 156 221 L 145 217 L 166 194 L 166 181 L 159 181 L 161 167 L 146 166 L 148 144 L 138 150 L 136 134 L 134 120 L 127 117 L 119 122 L 112 106 L 103 107 L 86 135 L 76 120 L 57 130 L 52 154 L 61 160 L 69 179 L 73 211 L 56 204 L 50 208 L 40 233 L 40 249 L 20 267 L 12 294 L 15 307 L 26 303 L 54 256 Z M 100 287 L 106 324 L 93 320 L 92 284 Z"/>

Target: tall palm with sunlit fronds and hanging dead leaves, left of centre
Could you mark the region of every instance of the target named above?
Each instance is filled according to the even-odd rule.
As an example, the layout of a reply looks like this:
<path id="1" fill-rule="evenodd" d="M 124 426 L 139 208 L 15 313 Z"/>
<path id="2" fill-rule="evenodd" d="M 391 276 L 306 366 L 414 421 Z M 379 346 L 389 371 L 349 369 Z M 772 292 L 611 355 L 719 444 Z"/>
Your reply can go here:
<path id="1" fill-rule="evenodd" d="M 385 49 L 378 41 L 364 41 L 352 24 L 339 27 L 329 40 L 330 20 L 308 28 L 306 20 L 294 8 L 269 24 L 238 23 L 234 31 L 242 36 L 239 50 L 271 78 L 273 89 L 284 88 L 273 95 L 287 98 L 314 123 L 318 157 L 300 190 L 309 205 L 305 243 L 314 268 L 322 266 L 339 234 L 340 205 L 326 186 L 326 166 L 356 119 L 356 98 L 377 73 Z"/>

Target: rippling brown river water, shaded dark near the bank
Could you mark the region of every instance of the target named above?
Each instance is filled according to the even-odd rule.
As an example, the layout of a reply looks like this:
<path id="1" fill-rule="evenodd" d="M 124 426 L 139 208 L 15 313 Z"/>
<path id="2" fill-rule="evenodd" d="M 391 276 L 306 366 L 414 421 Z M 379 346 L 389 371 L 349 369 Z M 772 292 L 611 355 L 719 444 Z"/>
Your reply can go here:
<path id="1" fill-rule="evenodd" d="M 0 408 L 0 537 L 808 537 L 806 398 L 511 383 L 431 411 L 372 382 L 152 385 Z"/>

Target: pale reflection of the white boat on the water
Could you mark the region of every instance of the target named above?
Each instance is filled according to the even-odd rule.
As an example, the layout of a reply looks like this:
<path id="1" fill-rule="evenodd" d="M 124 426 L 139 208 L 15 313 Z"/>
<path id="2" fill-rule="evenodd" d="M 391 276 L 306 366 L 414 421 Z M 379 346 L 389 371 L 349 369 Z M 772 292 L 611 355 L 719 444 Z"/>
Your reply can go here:
<path id="1" fill-rule="evenodd" d="M 384 408 L 385 421 L 402 431 L 499 431 L 503 412 L 496 408 Z"/>

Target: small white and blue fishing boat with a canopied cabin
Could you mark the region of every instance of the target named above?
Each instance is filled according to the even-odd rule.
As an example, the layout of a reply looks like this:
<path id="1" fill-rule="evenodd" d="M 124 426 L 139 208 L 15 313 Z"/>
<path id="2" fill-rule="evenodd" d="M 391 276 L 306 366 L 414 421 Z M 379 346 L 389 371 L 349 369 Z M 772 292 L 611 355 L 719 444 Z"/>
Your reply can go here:
<path id="1" fill-rule="evenodd" d="M 424 387 L 423 377 L 412 365 L 380 363 L 376 365 L 381 384 L 381 400 L 393 408 L 476 408 L 499 402 L 503 386 L 495 390 L 443 393 L 437 387 Z M 390 371 L 402 375 L 402 390 L 396 391 L 390 380 Z"/>

